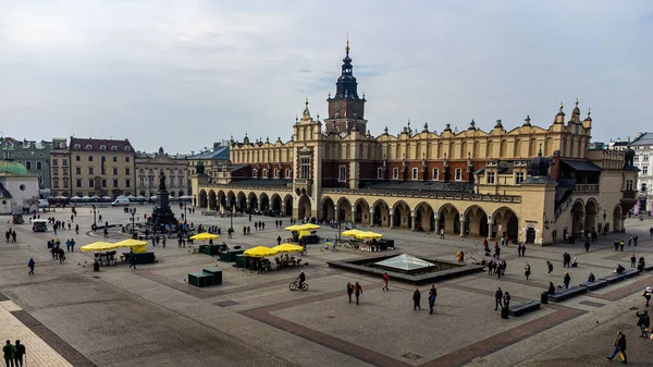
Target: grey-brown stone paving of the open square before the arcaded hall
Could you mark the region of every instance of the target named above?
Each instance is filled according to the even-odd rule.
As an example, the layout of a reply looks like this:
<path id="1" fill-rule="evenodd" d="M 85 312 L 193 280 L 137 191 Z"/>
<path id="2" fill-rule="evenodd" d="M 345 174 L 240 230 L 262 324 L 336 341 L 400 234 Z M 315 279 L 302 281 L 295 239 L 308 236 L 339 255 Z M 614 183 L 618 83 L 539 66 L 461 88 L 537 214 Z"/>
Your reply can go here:
<path id="1" fill-rule="evenodd" d="M 138 212 L 151 210 L 138 206 Z M 627 234 L 602 236 L 590 252 L 582 244 L 529 246 L 527 257 L 515 247 L 502 252 L 508 262 L 501 280 L 477 273 L 436 284 L 434 315 L 412 310 L 415 288 L 381 281 L 328 267 L 326 262 L 373 256 L 348 248 L 333 253 L 313 245 L 304 257 L 310 290 L 289 292 L 287 284 L 298 270 L 252 273 L 204 255 L 193 247 L 169 241 L 165 248 L 151 247 L 158 262 L 137 270 L 120 264 L 91 271 L 93 254 L 81 245 L 102 241 L 89 231 L 93 213 L 78 210 L 82 228 L 73 231 L 33 233 L 29 225 L 12 225 L 16 244 L 0 243 L 0 340 L 21 339 L 29 351 L 29 366 L 596 366 L 605 365 L 617 330 L 628 338 L 629 364 L 653 366 L 653 341 L 638 338 L 634 313 L 643 309 L 641 290 L 653 285 L 653 273 L 590 292 L 523 317 L 501 319 L 494 311 L 494 290 L 501 286 L 513 303 L 538 299 L 550 281 L 562 283 L 564 271 L 572 283 L 589 272 L 597 278 L 617 264 L 629 268 L 629 258 L 653 261 L 653 220 L 627 220 L 628 232 L 640 236 L 638 247 L 614 252 L 612 241 Z M 126 223 L 120 208 L 100 208 L 103 220 Z M 44 215 L 41 215 L 44 216 Z M 70 210 L 46 213 L 67 220 Z M 223 230 L 229 218 L 189 215 L 194 224 L 215 224 Z M 251 225 L 252 234 L 236 233 L 230 245 L 275 245 L 274 219 L 266 231 L 255 231 L 245 217 L 234 227 Z M 287 225 L 287 219 L 284 220 Z M 2 230 L 7 230 L 5 225 Z M 480 238 L 436 236 L 408 231 L 375 229 L 396 241 L 396 253 L 454 260 L 463 249 L 468 259 L 482 257 Z M 242 233 L 242 232 L 241 232 Z M 337 231 L 320 230 L 333 237 Z M 48 238 L 62 243 L 74 237 L 78 246 L 65 264 L 53 260 Z M 111 241 L 125 234 L 110 232 Z M 569 252 L 578 268 L 563 269 L 562 254 Z M 35 276 L 27 260 L 36 261 Z M 545 261 L 554 262 L 546 274 Z M 532 268 L 527 281 L 525 262 Z M 188 272 L 209 266 L 223 270 L 223 284 L 197 289 L 187 284 Z M 360 306 L 347 302 L 344 284 L 360 282 Z M 426 294 L 422 290 L 422 306 Z M 4 338 L 4 339 L 1 339 Z"/>

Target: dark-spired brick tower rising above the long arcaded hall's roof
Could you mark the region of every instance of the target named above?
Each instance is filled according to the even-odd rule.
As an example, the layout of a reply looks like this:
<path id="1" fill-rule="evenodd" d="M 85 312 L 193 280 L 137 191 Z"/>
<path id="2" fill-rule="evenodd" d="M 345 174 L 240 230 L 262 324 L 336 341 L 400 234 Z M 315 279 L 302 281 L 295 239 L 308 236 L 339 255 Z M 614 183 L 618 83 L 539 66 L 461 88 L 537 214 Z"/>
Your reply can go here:
<path id="1" fill-rule="evenodd" d="M 326 133 L 348 133 L 352 130 L 367 131 L 365 120 L 365 97 L 358 97 L 358 82 L 352 73 L 352 58 L 349 58 L 349 40 L 345 47 L 343 71 L 335 83 L 335 96 L 326 99 L 329 102 L 329 119 L 324 120 Z"/>

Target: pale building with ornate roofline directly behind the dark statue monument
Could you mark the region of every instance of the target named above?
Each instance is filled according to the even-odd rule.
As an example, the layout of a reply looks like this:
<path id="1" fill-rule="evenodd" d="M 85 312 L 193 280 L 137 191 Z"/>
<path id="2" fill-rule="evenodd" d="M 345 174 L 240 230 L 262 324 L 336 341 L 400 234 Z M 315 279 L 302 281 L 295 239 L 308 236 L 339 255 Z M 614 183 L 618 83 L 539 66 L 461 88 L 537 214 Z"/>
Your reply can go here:
<path id="1" fill-rule="evenodd" d="M 165 174 L 168 191 L 172 197 L 190 195 L 188 159 L 170 156 L 159 148 L 156 154 L 136 154 L 136 194 L 150 197 L 159 191 L 159 172 Z M 195 169 L 195 167 L 193 168 Z"/>

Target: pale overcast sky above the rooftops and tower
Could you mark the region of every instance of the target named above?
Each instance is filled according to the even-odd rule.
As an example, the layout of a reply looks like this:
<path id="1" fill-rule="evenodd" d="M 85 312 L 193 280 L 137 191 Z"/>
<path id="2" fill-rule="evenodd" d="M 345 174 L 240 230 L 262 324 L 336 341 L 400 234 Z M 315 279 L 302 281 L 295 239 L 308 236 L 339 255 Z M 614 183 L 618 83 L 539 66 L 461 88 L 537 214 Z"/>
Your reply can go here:
<path id="1" fill-rule="evenodd" d="M 653 130 L 652 1 L 0 0 L 0 131 L 189 152 L 326 115 L 349 34 L 372 134 L 408 120 Z"/>

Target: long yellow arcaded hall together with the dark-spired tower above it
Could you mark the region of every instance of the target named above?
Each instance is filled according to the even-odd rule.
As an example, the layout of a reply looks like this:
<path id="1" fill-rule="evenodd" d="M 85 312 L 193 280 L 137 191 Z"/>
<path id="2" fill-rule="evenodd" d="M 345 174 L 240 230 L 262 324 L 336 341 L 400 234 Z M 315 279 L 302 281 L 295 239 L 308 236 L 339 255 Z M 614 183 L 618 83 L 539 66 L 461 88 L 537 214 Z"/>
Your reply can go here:
<path id="1" fill-rule="evenodd" d="M 564 106 L 544 127 L 454 132 L 408 122 L 372 136 L 347 45 L 329 115 L 308 101 L 289 142 L 230 140 L 230 162 L 209 178 L 199 161 L 194 205 L 551 244 L 567 234 L 624 230 L 636 203 L 632 149 L 590 149 L 592 119 Z M 289 126 L 288 126 L 289 127 Z"/>

